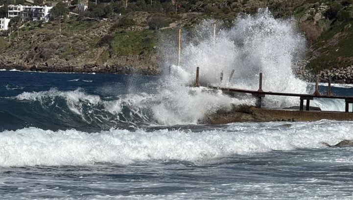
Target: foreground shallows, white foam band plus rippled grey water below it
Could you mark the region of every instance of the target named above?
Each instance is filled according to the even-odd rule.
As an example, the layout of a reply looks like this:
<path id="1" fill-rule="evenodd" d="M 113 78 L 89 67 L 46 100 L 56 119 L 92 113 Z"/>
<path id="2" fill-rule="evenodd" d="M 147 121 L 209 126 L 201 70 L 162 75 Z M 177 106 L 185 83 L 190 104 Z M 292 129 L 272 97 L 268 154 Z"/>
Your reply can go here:
<path id="1" fill-rule="evenodd" d="M 3 199 L 350 199 L 351 122 L 0 133 Z M 200 129 L 204 129 L 200 131 Z"/>

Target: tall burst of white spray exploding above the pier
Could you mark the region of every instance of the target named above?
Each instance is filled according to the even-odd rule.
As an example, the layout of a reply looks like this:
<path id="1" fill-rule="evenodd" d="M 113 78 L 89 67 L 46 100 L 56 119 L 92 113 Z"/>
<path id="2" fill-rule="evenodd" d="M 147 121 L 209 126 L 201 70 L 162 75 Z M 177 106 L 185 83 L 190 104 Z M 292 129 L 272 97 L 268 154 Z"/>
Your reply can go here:
<path id="1" fill-rule="evenodd" d="M 182 64 L 170 68 L 173 81 L 192 83 L 196 67 L 200 67 L 200 80 L 205 85 L 256 90 L 262 72 L 265 91 L 307 93 L 307 84 L 292 72 L 292 65 L 306 44 L 292 20 L 274 19 L 268 9 L 259 9 L 254 16 L 238 17 L 230 29 L 220 28 L 215 37 L 213 24 L 211 20 L 203 21 L 195 26 L 193 34 L 184 34 Z M 185 35 L 191 38 L 186 39 Z M 235 74 L 228 81 L 233 69 Z M 264 104 L 278 108 L 298 102 L 290 97 L 271 97 L 264 99 Z"/>

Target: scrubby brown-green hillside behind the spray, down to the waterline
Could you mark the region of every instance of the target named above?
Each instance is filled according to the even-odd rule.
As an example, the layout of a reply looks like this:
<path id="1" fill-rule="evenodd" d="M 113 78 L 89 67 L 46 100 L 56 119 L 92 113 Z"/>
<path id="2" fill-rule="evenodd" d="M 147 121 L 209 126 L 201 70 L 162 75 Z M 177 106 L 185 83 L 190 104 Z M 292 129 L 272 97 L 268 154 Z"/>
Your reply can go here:
<path id="1" fill-rule="evenodd" d="M 37 3 L 43 3 L 35 1 Z M 353 65 L 352 0 L 206 0 L 89 2 L 89 10 L 71 7 L 69 18 L 26 22 L 0 39 L 0 66 L 22 70 L 157 74 L 160 35 L 189 29 L 212 18 L 232 26 L 239 14 L 268 7 L 275 18 L 294 17 L 307 39 L 308 74 Z M 2 0 L 1 3 L 6 1 Z M 3 7 L 1 8 L 3 10 Z M 0 14 L 1 14 L 0 9 Z M 3 13 L 3 12 L 2 12 Z M 94 18 L 98 20 L 92 20 Z M 16 27 L 13 29 L 16 30 Z M 340 79 L 340 77 L 335 77 Z M 322 79 L 323 81 L 324 78 Z M 351 80 L 345 80 L 350 82 Z"/>

